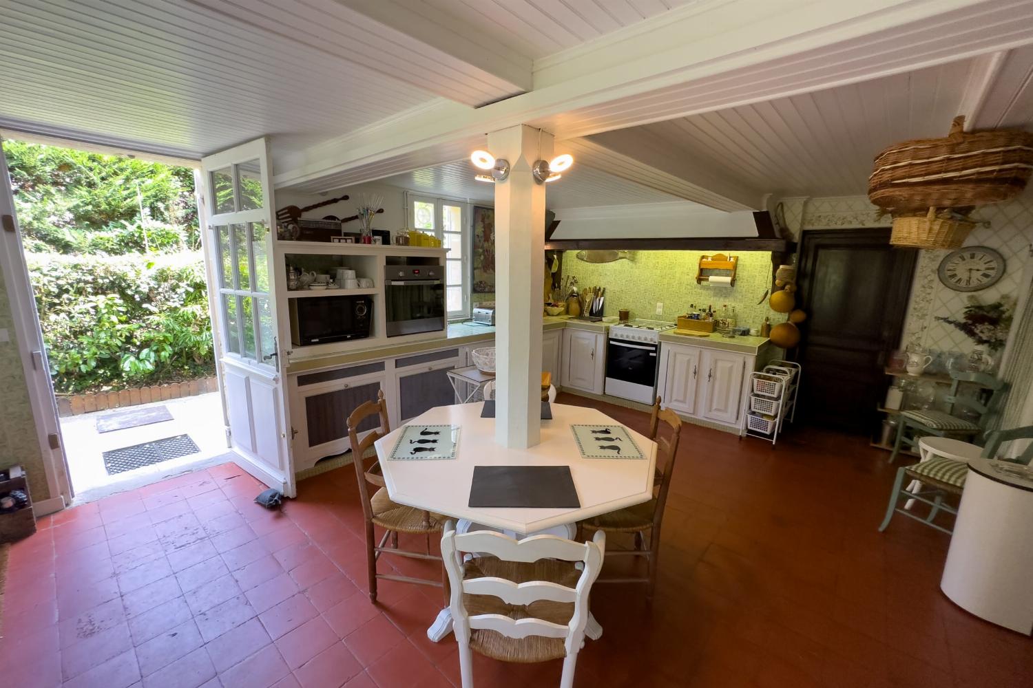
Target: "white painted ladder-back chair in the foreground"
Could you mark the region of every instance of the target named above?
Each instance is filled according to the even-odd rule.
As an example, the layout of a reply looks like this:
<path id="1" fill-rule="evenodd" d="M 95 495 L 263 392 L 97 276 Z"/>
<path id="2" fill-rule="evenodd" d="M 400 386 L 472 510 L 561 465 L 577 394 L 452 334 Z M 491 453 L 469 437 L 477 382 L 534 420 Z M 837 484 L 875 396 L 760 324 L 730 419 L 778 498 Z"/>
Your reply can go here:
<path id="1" fill-rule="evenodd" d="M 590 543 L 555 535 L 518 542 L 489 530 L 459 534 L 453 522 L 445 525 L 441 556 L 463 688 L 473 688 L 474 651 L 525 663 L 563 658 L 560 688 L 573 686 L 605 543 L 601 530 Z M 464 562 L 466 552 L 490 556 Z"/>

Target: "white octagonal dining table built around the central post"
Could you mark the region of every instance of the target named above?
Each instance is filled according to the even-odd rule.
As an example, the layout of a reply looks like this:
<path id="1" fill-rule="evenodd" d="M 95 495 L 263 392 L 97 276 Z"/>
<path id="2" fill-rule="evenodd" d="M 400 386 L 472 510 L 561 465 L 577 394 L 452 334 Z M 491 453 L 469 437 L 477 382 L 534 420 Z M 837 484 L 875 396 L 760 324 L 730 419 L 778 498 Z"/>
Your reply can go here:
<path id="1" fill-rule="evenodd" d="M 483 402 L 437 406 L 406 425 L 459 426 L 455 459 L 392 460 L 405 426 L 375 444 L 387 494 L 393 501 L 425 509 L 453 519 L 511 530 L 527 535 L 573 524 L 599 514 L 632 506 L 653 498 L 656 443 L 618 423 L 601 411 L 552 404 L 552 420 L 541 421 L 541 441 L 527 449 L 510 449 L 495 441 L 495 419 L 481 418 Z M 571 425 L 614 425 L 624 428 L 638 446 L 641 459 L 582 457 Z M 470 506 L 475 466 L 568 466 L 581 506 L 576 509 L 490 509 Z M 592 624 L 597 632 L 601 629 Z M 451 616 L 441 611 L 427 634 L 439 641 L 451 630 Z M 593 633 L 596 634 L 596 633 Z"/>

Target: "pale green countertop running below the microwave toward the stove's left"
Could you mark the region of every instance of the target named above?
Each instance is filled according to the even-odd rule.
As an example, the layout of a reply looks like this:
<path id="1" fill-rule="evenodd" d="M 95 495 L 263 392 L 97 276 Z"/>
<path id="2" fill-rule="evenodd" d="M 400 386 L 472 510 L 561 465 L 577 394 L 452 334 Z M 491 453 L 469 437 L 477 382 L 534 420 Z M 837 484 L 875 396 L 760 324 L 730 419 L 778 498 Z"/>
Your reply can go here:
<path id="1" fill-rule="evenodd" d="M 542 329 L 559 330 L 565 327 L 574 329 L 591 330 L 594 332 L 605 332 L 609 327 L 608 323 L 590 323 L 582 320 L 574 320 L 568 316 L 543 317 Z M 406 341 L 397 346 L 371 347 L 370 349 L 358 349 L 355 351 L 339 352 L 325 356 L 314 356 L 287 364 L 287 373 L 309 372 L 323 368 L 333 368 L 341 365 L 351 365 L 364 361 L 372 361 L 381 358 L 398 358 L 408 354 L 418 354 L 425 351 L 443 349 L 446 347 L 461 347 L 463 345 L 475 343 L 477 341 L 488 341 L 495 338 L 495 327 L 491 325 L 474 325 L 469 321 L 462 323 L 448 323 L 448 329 L 444 336 L 425 339 L 422 341 Z"/>

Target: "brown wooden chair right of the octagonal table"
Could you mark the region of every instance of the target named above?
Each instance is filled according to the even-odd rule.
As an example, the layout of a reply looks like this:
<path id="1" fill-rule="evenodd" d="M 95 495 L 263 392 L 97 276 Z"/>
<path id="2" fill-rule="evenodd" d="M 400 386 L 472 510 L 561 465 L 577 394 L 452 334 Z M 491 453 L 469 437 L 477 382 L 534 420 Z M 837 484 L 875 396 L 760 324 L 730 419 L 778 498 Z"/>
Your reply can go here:
<path id="1" fill-rule="evenodd" d="M 662 424 L 662 425 L 661 425 Z M 661 436 L 660 430 L 666 426 L 666 436 Z M 584 530 L 602 530 L 607 533 L 625 532 L 635 534 L 635 549 L 609 549 L 606 557 L 645 557 L 649 570 L 644 578 L 600 578 L 596 583 L 646 583 L 646 596 L 653 599 L 656 589 L 657 563 L 660 557 L 660 525 L 663 522 L 663 509 L 667 503 L 667 491 L 670 489 L 670 476 L 675 471 L 675 458 L 678 455 L 678 441 L 682 434 L 682 419 L 669 408 L 660 408 L 660 397 L 656 398 L 650 415 L 649 436 L 657 444 L 656 477 L 653 481 L 652 499 L 643 504 L 620 509 L 608 514 L 601 514 L 582 521 L 578 526 Z M 649 535 L 649 548 L 646 548 L 646 537 Z"/>

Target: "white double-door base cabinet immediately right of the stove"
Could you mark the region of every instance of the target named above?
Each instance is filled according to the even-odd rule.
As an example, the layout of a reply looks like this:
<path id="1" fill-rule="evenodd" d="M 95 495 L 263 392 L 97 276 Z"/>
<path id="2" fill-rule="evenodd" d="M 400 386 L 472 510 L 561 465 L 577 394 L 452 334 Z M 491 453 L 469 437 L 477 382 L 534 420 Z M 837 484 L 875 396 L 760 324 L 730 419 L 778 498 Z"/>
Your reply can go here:
<path id="1" fill-rule="evenodd" d="M 660 346 L 657 389 L 663 405 L 686 418 L 741 428 L 754 354 L 693 345 Z"/>

